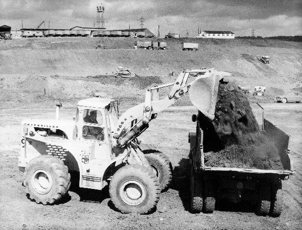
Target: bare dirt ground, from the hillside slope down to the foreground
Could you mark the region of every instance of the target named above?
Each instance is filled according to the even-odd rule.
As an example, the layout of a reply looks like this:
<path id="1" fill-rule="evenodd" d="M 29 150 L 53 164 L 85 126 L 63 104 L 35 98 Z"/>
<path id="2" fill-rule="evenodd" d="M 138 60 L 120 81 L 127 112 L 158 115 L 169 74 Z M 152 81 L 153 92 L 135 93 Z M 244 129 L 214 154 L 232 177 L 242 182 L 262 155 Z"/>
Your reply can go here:
<path id="1" fill-rule="evenodd" d="M 95 49 L 98 38 L 37 38 L 0 42 L 0 229 L 6 230 L 237 230 L 288 229 L 302 226 L 302 104 L 272 103 L 302 80 L 302 43 L 278 40 L 175 39 L 167 50 L 135 50 L 137 39 L 106 38 L 108 49 Z M 182 51 L 181 42 L 198 42 L 197 52 Z M 270 64 L 258 57 L 269 55 Z M 138 76 L 114 78 L 118 66 Z M 173 167 L 182 168 L 181 180 L 163 192 L 157 209 L 148 215 L 121 214 L 110 202 L 108 189 L 78 189 L 58 205 L 37 205 L 26 198 L 23 173 L 18 170 L 24 118 L 55 117 L 61 100 L 61 119 L 72 119 L 79 99 L 93 96 L 121 98 L 122 110 L 144 101 L 145 88 L 173 82 L 183 69 L 214 68 L 232 73 L 238 85 L 264 85 L 261 102 L 265 117 L 290 135 L 290 157 L 296 173 L 283 182 L 284 208 L 280 217 L 256 216 L 250 204 L 218 203 L 212 214 L 189 211 L 188 132 L 194 132 L 191 115 L 197 113 L 183 97 L 150 122 L 139 139 L 143 149 L 165 153 Z M 174 72 L 173 76 L 169 73 Z M 192 79 L 191 79 L 192 80 Z M 163 91 L 161 95 L 166 95 Z M 262 104 L 266 102 L 266 104 Z M 268 103 L 269 102 L 269 103 Z M 181 107 L 180 107 L 181 106 Z M 252 104 L 256 119 L 261 111 Z"/>

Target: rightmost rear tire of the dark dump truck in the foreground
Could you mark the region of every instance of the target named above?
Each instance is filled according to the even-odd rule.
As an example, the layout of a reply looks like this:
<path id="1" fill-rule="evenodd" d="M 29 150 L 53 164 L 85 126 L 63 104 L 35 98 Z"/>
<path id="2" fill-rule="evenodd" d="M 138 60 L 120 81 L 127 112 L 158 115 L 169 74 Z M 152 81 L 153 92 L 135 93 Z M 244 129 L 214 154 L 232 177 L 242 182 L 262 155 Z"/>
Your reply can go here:
<path id="1" fill-rule="evenodd" d="M 271 184 L 271 209 L 270 214 L 273 217 L 278 217 L 282 212 L 283 207 L 283 191 L 282 183 Z"/>

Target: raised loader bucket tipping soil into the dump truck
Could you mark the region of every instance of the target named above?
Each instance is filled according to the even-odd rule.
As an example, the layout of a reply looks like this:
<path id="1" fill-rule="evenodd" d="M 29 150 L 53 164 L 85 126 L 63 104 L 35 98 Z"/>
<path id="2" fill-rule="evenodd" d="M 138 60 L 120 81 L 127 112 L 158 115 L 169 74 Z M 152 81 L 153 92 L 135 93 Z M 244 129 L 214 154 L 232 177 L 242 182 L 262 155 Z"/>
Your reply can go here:
<path id="1" fill-rule="evenodd" d="M 219 81 L 231 73 L 209 69 L 190 83 L 189 98 L 191 103 L 210 120 L 214 119 Z"/>

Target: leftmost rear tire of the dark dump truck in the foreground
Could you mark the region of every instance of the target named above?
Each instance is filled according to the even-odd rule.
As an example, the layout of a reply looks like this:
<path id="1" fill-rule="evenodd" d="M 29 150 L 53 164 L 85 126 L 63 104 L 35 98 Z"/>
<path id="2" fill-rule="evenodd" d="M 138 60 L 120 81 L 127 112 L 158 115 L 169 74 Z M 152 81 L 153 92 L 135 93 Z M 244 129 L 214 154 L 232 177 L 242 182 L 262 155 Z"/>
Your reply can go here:
<path id="1" fill-rule="evenodd" d="M 194 213 L 201 212 L 203 207 L 201 180 L 197 178 L 192 167 L 191 167 L 191 178 L 190 178 L 190 195 L 191 195 L 191 211 Z"/>

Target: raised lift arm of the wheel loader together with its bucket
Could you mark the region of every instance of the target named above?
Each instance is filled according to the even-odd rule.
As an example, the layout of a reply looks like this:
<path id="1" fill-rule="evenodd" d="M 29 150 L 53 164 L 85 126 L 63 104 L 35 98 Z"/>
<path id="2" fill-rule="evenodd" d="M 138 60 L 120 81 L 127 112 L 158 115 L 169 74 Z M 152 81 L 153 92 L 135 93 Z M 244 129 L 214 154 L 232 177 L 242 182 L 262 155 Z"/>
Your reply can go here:
<path id="1" fill-rule="evenodd" d="M 196 73 L 196 79 L 186 84 L 190 73 Z M 173 105 L 180 97 L 189 92 L 190 101 L 210 119 L 214 118 L 214 110 L 218 92 L 218 82 L 230 73 L 218 72 L 214 69 L 186 69 L 177 77 L 174 83 L 148 88 L 145 102 L 128 109 L 123 113 L 114 130 L 113 138 L 117 146 L 123 146 L 138 137 L 149 127 L 149 122 L 157 114 Z M 159 90 L 172 86 L 168 96 L 159 99 Z"/>

